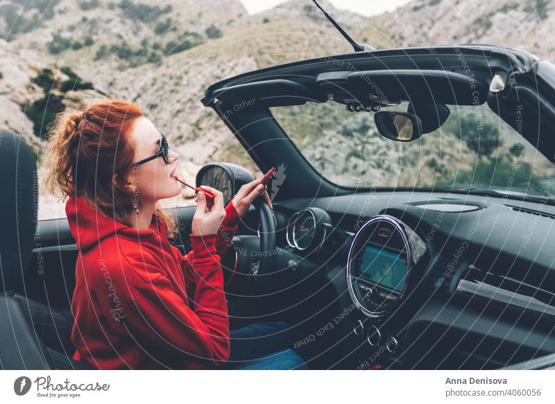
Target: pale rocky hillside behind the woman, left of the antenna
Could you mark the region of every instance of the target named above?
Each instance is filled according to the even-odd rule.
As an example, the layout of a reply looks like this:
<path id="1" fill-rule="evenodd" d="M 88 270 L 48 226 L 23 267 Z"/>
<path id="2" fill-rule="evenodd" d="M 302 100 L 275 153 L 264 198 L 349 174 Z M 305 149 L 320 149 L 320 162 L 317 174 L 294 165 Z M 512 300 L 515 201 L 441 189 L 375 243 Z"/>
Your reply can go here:
<path id="1" fill-rule="evenodd" d="M 357 31 L 366 27 L 364 17 L 323 3 L 346 27 Z M 24 94 L 33 73 L 71 69 L 80 82 L 92 83 L 95 94 L 139 104 L 169 134 L 182 156 L 182 176 L 191 180 L 200 166 L 212 160 L 257 170 L 229 130 L 201 105 L 208 85 L 273 64 L 350 51 L 307 0 L 282 3 L 253 16 L 234 0 L 7 0 L 0 9 L 0 32 L 10 41 L 10 49 L 17 49 L 18 58 L 33 66 L 27 76 L 17 73 Z M 379 35 L 368 40 L 391 46 Z M 47 103 L 39 89 L 35 97 L 19 97 L 12 108 L 19 105 L 23 110 L 27 104 L 51 116 L 67 105 L 53 92 Z M 32 130 L 33 123 L 21 113 L 12 116 L 9 127 L 17 128 L 19 121 L 26 126 L 17 132 L 31 136 L 30 140 L 35 140 L 33 132 L 41 133 L 40 128 Z M 187 200 L 191 196 L 184 191 Z M 52 201 L 49 195 L 43 197 Z M 60 214 L 58 206 L 46 205 L 41 205 L 42 218 Z"/>

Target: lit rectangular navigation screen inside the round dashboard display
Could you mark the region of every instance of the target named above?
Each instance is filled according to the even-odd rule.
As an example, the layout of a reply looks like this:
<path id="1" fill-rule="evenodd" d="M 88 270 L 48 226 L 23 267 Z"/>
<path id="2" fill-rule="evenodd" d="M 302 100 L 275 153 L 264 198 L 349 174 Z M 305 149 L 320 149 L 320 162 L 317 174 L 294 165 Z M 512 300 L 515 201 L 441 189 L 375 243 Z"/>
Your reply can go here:
<path id="1" fill-rule="evenodd" d="M 367 245 L 361 260 L 361 276 L 401 292 L 407 276 L 407 261 L 399 254 Z"/>

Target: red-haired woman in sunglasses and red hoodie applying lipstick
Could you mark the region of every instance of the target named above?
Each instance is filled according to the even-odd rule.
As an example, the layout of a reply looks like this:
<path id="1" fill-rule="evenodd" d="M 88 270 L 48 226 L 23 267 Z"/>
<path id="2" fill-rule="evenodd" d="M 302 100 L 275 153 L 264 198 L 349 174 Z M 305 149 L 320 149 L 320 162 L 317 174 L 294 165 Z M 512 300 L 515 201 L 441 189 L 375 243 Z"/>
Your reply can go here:
<path id="1" fill-rule="evenodd" d="M 192 251 L 182 256 L 169 243 L 176 223 L 157 204 L 181 192 L 173 177 L 178 155 L 137 105 L 108 100 L 60 114 L 47 156 L 46 184 L 68 198 L 79 250 L 71 302 L 74 359 L 96 369 L 202 369 L 230 356 L 226 368 L 305 367 L 287 349 L 294 344 L 287 324 L 229 330 L 222 233 L 234 234 L 256 197 L 270 203 L 259 179 L 241 187 L 225 208 L 222 193 L 203 186 L 214 202 L 198 192 Z M 245 343 L 257 339 L 262 344 Z"/>

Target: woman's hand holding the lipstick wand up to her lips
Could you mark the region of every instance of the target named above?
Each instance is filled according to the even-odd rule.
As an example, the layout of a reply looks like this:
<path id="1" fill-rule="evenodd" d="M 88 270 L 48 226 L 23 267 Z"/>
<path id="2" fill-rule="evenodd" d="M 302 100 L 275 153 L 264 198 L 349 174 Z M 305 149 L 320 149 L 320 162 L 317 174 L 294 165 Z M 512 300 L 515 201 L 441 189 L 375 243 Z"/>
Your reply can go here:
<path id="1" fill-rule="evenodd" d="M 191 233 L 195 236 L 206 236 L 218 231 L 225 218 L 225 209 L 223 209 L 223 194 L 220 191 L 205 185 L 201 185 L 200 188 L 204 188 L 214 195 L 214 204 L 207 206 L 206 195 L 202 191 L 198 191 Z"/>

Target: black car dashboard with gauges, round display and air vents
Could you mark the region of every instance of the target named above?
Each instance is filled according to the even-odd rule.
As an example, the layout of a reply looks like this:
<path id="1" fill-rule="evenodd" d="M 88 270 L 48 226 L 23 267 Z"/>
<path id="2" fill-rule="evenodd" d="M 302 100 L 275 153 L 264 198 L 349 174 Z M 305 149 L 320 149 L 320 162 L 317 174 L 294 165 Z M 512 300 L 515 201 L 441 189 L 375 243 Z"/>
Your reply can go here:
<path id="1" fill-rule="evenodd" d="M 555 207 L 372 191 L 274 215 L 278 247 L 325 268 L 343 367 L 496 369 L 555 352 Z"/>

